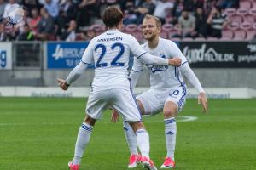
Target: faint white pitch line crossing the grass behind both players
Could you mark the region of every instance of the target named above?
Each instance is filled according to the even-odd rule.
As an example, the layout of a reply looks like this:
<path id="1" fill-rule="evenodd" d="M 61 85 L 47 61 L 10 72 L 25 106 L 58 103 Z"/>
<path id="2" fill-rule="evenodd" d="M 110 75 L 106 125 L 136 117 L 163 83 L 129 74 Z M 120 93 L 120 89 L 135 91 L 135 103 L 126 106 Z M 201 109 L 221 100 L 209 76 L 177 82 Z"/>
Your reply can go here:
<path id="1" fill-rule="evenodd" d="M 177 116 L 179 119 L 176 122 L 190 122 L 198 119 L 196 116 Z M 163 121 L 152 121 L 152 122 L 163 122 Z M 111 122 L 101 122 L 101 123 L 111 123 Z M 0 126 L 49 126 L 49 125 L 69 125 L 75 124 L 74 122 L 40 122 L 40 123 L 22 123 L 22 122 L 9 122 L 0 123 Z"/>

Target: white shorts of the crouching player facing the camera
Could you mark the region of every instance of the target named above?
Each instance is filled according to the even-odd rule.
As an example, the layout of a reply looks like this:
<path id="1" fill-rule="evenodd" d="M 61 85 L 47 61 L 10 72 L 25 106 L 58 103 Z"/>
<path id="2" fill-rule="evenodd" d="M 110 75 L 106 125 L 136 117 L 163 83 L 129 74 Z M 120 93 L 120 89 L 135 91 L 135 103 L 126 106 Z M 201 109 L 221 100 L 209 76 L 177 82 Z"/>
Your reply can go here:
<path id="1" fill-rule="evenodd" d="M 168 91 L 159 91 L 149 89 L 143 94 L 137 95 L 137 99 L 144 106 L 146 115 L 155 115 L 163 111 L 166 102 L 172 101 L 177 105 L 178 111 L 183 110 L 186 102 L 187 90 L 185 85 L 176 88 L 170 88 Z"/>

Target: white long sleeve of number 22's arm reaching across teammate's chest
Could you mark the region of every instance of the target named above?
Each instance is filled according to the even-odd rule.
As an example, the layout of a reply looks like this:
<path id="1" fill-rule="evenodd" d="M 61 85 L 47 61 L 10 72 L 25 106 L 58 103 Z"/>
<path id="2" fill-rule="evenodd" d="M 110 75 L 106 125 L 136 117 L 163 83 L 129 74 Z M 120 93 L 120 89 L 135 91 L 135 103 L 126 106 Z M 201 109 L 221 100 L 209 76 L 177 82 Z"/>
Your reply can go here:
<path id="1" fill-rule="evenodd" d="M 168 65 L 168 59 L 163 59 L 151 54 L 148 54 L 145 49 L 137 42 L 135 37 L 131 36 L 130 42 L 131 53 L 137 58 L 141 59 L 143 63 L 148 65 Z"/>

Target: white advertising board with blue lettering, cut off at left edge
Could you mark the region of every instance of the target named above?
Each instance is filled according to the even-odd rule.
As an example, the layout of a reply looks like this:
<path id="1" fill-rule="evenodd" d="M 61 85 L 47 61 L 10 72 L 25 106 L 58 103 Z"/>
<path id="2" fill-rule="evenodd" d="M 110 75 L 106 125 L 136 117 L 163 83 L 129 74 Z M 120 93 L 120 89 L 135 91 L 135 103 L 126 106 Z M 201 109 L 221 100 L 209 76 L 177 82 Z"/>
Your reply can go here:
<path id="1" fill-rule="evenodd" d="M 0 42 L 0 70 L 12 68 L 12 43 Z"/>

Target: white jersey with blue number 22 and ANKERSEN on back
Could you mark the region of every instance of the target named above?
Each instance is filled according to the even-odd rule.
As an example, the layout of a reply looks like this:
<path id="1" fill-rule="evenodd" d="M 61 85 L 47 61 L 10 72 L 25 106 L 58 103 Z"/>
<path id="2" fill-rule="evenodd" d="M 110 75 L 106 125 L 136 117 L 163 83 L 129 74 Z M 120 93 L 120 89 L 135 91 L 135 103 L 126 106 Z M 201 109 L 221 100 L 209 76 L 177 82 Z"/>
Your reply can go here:
<path id="1" fill-rule="evenodd" d="M 94 37 L 85 49 L 81 61 L 94 64 L 92 90 L 130 89 L 128 64 L 130 55 L 139 58 L 147 53 L 135 37 L 118 30 L 108 30 Z"/>

